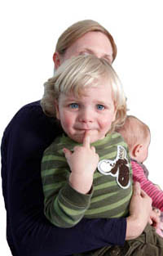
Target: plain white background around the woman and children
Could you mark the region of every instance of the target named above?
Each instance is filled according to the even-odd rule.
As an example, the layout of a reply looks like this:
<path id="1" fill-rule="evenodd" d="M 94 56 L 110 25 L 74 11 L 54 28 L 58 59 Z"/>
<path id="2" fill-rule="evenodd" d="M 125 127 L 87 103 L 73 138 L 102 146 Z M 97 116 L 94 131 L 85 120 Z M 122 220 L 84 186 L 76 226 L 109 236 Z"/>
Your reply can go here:
<path id="1" fill-rule="evenodd" d="M 129 114 L 138 116 L 151 129 L 152 141 L 145 164 L 152 182 L 163 188 L 161 2 L 3 1 L 0 6 L 0 137 L 21 106 L 42 97 L 42 84 L 53 74 L 52 55 L 59 35 L 78 20 L 97 20 L 117 43 L 118 53 L 113 67 L 124 85 Z M 0 254 L 9 256 L 2 192 L 0 216 Z"/>

